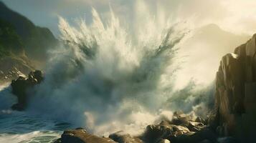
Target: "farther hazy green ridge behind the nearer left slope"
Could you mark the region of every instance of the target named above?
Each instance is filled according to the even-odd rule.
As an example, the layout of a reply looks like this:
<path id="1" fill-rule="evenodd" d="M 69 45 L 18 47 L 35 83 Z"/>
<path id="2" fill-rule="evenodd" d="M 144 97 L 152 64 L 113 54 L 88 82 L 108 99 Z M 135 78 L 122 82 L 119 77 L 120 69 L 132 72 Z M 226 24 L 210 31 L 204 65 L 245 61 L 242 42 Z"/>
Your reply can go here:
<path id="1" fill-rule="evenodd" d="M 58 42 L 49 29 L 35 26 L 32 21 L 12 11 L 1 1 L 0 20 L 8 22 L 14 27 L 16 34 L 22 41 L 26 55 L 33 61 L 45 61 L 47 50 Z"/>

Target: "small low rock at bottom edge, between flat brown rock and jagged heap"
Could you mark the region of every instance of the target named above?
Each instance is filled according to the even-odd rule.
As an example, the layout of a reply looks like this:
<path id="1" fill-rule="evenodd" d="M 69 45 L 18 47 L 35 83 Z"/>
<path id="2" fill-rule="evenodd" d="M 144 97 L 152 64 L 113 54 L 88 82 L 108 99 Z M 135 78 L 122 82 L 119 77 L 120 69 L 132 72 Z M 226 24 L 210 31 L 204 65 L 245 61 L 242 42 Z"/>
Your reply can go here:
<path id="1" fill-rule="evenodd" d="M 142 140 L 138 137 L 131 137 L 130 134 L 125 134 L 122 131 L 110 134 L 109 138 L 118 143 L 142 143 Z"/>

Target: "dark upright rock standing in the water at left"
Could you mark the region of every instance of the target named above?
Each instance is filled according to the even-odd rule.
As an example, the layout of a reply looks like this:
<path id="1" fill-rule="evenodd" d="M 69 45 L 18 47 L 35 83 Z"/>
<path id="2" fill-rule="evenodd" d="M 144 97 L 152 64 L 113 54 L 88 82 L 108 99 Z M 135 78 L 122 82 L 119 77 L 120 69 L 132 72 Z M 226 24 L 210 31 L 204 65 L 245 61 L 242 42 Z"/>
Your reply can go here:
<path id="1" fill-rule="evenodd" d="M 14 104 L 11 109 L 22 111 L 27 106 L 29 89 L 34 85 L 41 83 L 43 80 L 42 71 L 31 71 L 28 77 L 19 77 L 11 81 L 12 93 L 18 98 L 18 103 Z"/>

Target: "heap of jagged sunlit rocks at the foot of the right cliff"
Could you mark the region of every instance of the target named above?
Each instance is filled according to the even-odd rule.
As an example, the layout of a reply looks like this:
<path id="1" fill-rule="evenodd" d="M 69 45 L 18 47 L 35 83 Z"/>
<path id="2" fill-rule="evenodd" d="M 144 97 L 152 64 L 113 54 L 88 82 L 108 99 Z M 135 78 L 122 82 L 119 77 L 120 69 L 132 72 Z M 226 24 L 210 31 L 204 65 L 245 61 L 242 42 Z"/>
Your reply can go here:
<path id="1" fill-rule="evenodd" d="M 145 142 L 156 143 L 168 139 L 171 143 L 217 142 L 217 134 L 207 127 L 199 118 L 191 119 L 187 114 L 175 112 L 171 122 L 163 121 L 149 125 L 143 134 Z"/>

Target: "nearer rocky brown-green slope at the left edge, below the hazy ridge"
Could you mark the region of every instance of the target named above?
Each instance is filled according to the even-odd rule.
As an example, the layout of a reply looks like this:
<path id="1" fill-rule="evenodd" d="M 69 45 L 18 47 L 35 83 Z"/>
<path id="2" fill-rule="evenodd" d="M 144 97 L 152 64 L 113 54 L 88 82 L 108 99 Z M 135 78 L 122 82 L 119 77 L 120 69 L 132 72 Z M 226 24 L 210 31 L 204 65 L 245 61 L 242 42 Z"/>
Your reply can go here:
<path id="1" fill-rule="evenodd" d="M 32 69 L 22 39 L 14 26 L 0 19 L 0 84 L 9 82 L 20 74 L 27 74 Z"/>

